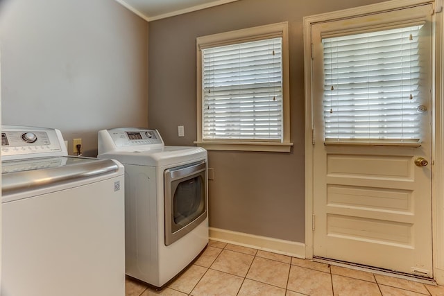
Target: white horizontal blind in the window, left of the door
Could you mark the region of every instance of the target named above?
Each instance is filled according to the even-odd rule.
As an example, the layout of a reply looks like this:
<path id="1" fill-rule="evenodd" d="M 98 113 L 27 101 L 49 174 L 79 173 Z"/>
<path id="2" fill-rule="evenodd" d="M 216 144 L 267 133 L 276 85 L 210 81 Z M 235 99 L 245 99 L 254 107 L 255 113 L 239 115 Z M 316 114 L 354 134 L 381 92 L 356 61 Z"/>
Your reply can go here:
<path id="1" fill-rule="evenodd" d="M 282 141 L 282 37 L 203 55 L 203 139 Z"/>

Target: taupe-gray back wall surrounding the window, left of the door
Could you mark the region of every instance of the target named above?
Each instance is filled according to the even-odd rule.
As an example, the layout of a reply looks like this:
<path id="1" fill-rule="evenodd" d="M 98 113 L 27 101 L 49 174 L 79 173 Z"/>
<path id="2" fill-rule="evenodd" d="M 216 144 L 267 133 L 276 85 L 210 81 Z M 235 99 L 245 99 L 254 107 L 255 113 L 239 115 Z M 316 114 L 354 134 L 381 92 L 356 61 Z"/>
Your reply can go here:
<path id="1" fill-rule="evenodd" d="M 209 151 L 210 226 L 305 241 L 302 17 L 381 0 L 240 0 L 150 22 L 148 125 L 169 145 L 196 140 L 196 37 L 289 21 L 291 153 Z M 177 136 L 185 125 L 185 137 Z"/>

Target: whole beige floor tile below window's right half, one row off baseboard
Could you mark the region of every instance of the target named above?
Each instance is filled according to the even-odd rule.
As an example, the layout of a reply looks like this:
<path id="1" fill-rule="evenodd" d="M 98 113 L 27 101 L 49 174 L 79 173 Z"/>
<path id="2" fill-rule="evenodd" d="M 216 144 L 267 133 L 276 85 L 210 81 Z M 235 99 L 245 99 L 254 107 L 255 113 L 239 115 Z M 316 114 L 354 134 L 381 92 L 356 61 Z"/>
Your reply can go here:
<path id="1" fill-rule="evenodd" d="M 290 264 L 274 261 L 266 258 L 255 257 L 250 270 L 246 276 L 247 279 L 254 279 L 264 284 L 287 288 L 287 279 L 289 277 Z"/>

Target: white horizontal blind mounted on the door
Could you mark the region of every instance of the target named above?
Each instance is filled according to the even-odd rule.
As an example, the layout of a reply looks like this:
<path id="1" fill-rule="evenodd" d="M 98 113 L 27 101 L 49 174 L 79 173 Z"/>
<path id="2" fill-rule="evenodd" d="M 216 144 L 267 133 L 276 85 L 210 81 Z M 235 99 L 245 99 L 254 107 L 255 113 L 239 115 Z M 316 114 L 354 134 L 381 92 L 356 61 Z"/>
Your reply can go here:
<path id="1" fill-rule="evenodd" d="M 420 141 L 421 28 L 323 39 L 325 141 Z"/>

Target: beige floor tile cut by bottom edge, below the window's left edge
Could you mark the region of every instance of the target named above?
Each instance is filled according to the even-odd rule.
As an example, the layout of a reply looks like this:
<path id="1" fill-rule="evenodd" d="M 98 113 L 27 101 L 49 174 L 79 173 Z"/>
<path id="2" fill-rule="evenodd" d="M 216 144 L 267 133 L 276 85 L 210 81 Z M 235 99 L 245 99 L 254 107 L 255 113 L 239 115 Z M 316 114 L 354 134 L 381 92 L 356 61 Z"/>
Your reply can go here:
<path id="1" fill-rule="evenodd" d="M 193 296 L 235 296 L 241 288 L 244 278 L 217 270 L 208 270 L 200 279 L 196 288 L 191 291 Z"/>

